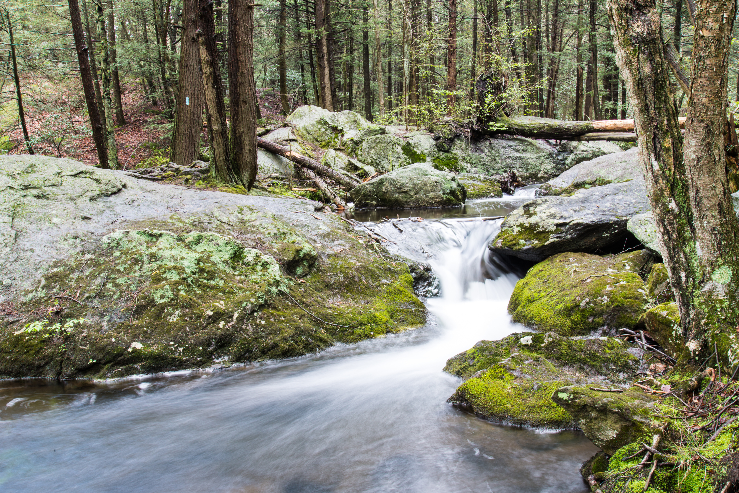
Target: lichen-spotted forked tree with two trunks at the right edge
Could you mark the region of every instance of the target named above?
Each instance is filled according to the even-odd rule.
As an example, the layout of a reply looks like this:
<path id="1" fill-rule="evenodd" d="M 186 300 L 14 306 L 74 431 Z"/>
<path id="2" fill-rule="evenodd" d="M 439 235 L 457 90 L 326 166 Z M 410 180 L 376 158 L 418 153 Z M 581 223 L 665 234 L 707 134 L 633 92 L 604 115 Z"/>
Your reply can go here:
<path id="1" fill-rule="evenodd" d="M 616 61 L 664 262 L 681 317 L 681 361 L 739 359 L 739 221 L 726 178 L 726 87 L 735 0 L 698 0 L 685 137 L 655 0 L 608 0 Z M 692 7 L 692 6 L 691 6 Z"/>

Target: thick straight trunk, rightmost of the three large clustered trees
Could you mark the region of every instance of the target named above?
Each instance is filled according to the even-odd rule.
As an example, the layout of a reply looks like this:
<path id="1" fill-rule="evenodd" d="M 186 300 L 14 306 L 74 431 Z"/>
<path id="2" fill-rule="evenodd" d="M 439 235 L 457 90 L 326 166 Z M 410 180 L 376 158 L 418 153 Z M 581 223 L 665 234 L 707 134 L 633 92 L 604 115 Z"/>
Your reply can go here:
<path id="1" fill-rule="evenodd" d="M 283 4 L 285 10 L 287 6 Z M 287 12 L 285 13 L 287 15 Z M 236 181 L 251 190 L 256 179 L 256 83 L 254 6 L 228 1 L 228 94 L 231 97 L 231 165 Z"/>

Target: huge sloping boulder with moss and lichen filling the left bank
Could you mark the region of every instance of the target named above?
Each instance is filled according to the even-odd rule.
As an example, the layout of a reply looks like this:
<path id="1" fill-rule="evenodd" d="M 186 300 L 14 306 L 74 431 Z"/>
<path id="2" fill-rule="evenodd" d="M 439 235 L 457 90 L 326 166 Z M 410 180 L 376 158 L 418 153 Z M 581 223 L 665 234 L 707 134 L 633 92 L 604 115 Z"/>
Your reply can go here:
<path id="1" fill-rule="evenodd" d="M 0 378 L 300 356 L 425 320 L 408 266 L 317 202 L 44 156 L 0 157 L 0 189 Z"/>

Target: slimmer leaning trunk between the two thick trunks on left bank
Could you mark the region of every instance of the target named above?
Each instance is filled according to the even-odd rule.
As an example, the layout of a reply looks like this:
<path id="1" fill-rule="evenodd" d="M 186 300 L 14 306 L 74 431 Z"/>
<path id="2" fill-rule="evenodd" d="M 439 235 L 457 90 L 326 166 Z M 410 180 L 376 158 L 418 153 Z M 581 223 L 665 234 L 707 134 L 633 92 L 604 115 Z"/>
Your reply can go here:
<path id="1" fill-rule="evenodd" d="M 197 41 L 200 49 L 202 85 L 211 127 L 211 176 L 217 183 L 239 183 L 231 167 L 228 146 L 228 123 L 223 100 L 216 26 L 213 20 L 213 3 L 197 0 Z M 251 102 L 253 106 L 253 101 Z"/>

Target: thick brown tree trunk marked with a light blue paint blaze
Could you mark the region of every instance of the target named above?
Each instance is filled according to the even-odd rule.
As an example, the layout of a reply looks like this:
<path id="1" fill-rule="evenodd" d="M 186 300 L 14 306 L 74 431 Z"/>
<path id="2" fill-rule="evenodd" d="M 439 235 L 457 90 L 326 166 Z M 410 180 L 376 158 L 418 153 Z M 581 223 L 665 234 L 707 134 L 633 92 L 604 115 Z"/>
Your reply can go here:
<path id="1" fill-rule="evenodd" d="M 205 89 L 200 76 L 200 45 L 197 43 L 196 0 L 184 0 L 183 35 L 180 41 L 180 77 L 177 80 L 177 101 L 174 106 L 169 160 L 188 166 L 200 156 L 202 108 Z"/>

